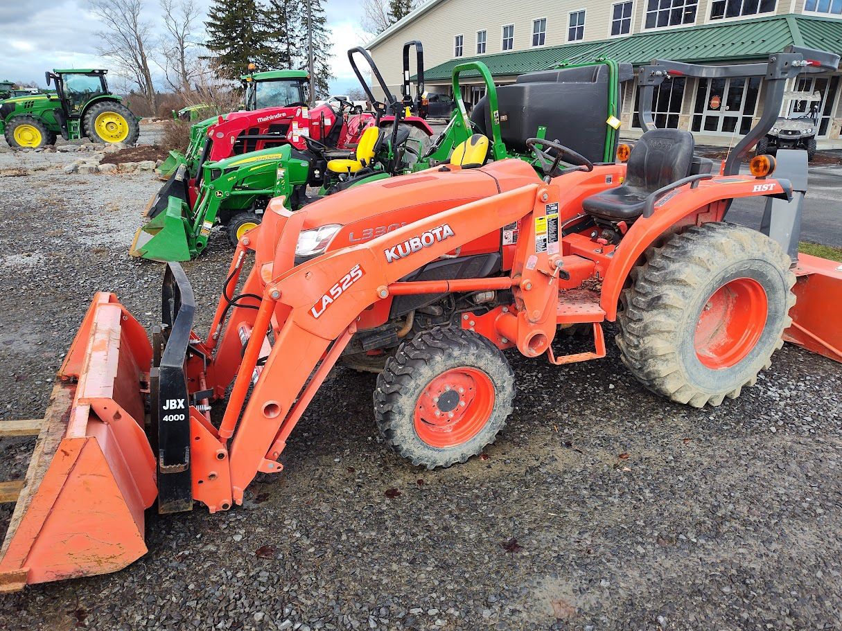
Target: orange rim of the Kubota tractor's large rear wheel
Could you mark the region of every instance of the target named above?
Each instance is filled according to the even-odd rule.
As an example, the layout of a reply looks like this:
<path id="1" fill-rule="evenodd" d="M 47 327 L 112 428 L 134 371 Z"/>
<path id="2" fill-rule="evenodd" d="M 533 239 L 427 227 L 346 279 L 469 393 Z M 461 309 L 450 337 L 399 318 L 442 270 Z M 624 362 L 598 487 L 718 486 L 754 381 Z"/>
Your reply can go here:
<path id="1" fill-rule="evenodd" d="M 753 278 L 736 278 L 717 289 L 701 308 L 695 327 L 695 355 L 709 369 L 741 362 L 763 334 L 769 303 Z"/>

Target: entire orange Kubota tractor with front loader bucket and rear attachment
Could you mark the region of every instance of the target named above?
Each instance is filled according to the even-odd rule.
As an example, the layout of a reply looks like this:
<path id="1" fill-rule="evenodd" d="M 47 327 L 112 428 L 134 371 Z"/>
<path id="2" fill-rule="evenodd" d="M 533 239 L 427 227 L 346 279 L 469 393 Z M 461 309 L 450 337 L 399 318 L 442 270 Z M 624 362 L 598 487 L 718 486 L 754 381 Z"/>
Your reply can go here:
<path id="1" fill-rule="evenodd" d="M 648 87 L 676 75 L 765 77 L 765 114 L 720 173 L 684 131 L 648 130 L 627 164 L 595 163 L 566 139 L 520 137 L 520 122 L 501 115 L 504 141 L 529 146 L 541 174 L 520 159 L 485 164 L 488 144 L 475 137 L 448 164 L 296 213 L 274 199 L 237 246 L 205 338 L 191 329 L 195 296 L 176 263 L 152 343 L 115 295 L 97 294 L 40 430 L 0 586 L 129 565 L 146 551 L 156 500 L 159 512 L 242 503 L 258 472 L 283 469 L 291 432 L 343 356 L 387 357 L 373 416 L 388 443 L 431 469 L 479 453 L 504 426 L 515 384 L 502 349 L 555 364 L 601 358 L 606 321 L 642 384 L 693 406 L 754 384 L 781 335 L 842 361 L 829 317 L 842 272 L 794 249 L 806 156 L 779 151 L 777 167 L 759 156 L 739 174 L 786 81 L 838 63 L 790 48 L 767 64 L 643 67 L 644 107 Z M 557 72 L 575 73 L 571 94 L 605 77 Z M 500 87 L 501 114 L 526 116 L 540 83 Z M 560 102 L 553 129 L 606 133 L 593 99 Z M 725 221 L 746 197 L 766 199 L 768 234 Z M 572 325 L 593 331 L 593 348 L 559 356 L 552 342 Z"/>

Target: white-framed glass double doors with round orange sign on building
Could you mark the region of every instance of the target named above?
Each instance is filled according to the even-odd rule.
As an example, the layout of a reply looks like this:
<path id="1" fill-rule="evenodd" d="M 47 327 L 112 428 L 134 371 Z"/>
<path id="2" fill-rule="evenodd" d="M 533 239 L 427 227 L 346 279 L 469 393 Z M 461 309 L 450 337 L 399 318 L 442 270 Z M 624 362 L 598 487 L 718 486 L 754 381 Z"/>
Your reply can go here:
<path id="1" fill-rule="evenodd" d="M 695 93 L 693 131 L 743 135 L 751 129 L 760 78 L 699 79 Z"/>

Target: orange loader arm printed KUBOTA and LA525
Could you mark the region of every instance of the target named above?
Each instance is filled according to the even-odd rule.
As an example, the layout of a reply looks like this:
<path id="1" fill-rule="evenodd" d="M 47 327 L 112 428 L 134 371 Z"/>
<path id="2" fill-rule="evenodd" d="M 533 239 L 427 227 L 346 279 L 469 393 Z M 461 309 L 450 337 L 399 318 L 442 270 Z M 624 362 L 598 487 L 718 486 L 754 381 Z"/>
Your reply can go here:
<path id="1" fill-rule="evenodd" d="M 430 215 L 365 244 L 317 257 L 267 283 L 222 421 L 223 428 L 234 430 L 233 500 L 242 503 L 244 490 L 258 472 L 280 471 L 276 460 L 287 437 L 353 335 L 363 310 L 387 298 L 392 290 L 400 290 L 399 279 L 427 262 L 524 218 L 541 198 L 557 199 L 557 194 L 547 193 L 551 188 L 556 189 L 529 184 Z M 537 202 L 541 214 L 543 199 Z M 478 278 L 471 287 L 516 282 L 515 278 Z M 413 285 L 415 293 L 426 290 L 423 283 Z M 268 331 L 273 315 L 278 322 L 272 326 L 274 346 L 237 422 L 264 343 L 263 331 Z"/>

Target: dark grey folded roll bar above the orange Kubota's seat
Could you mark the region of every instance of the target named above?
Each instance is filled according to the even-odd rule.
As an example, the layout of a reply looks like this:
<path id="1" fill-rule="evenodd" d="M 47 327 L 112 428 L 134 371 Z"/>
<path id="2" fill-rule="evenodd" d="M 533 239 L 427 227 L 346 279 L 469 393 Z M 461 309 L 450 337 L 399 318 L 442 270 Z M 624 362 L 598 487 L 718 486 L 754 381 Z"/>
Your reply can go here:
<path id="1" fill-rule="evenodd" d="M 674 77 L 698 78 L 749 78 L 763 77 L 766 82 L 763 116 L 757 125 L 743 136 L 725 162 L 724 175 L 736 175 L 743 158 L 765 136 L 781 111 L 786 91 L 786 81 L 801 72 L 835 71 L 839 67 L 839 55 L 825 50 L 814 50 L 789 45 L 769 56 L 766 63 L 732 64 L 728 66 L 699 66 L 679 61 L 653 59 L 647 66 L 641 66 L 637 74 L 639 89 L 640 121 L 643 131 L 655 128 L 652 115 L 654 88 L 666 79 Z"/>

